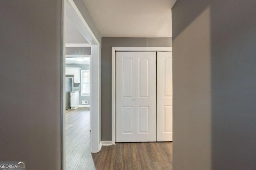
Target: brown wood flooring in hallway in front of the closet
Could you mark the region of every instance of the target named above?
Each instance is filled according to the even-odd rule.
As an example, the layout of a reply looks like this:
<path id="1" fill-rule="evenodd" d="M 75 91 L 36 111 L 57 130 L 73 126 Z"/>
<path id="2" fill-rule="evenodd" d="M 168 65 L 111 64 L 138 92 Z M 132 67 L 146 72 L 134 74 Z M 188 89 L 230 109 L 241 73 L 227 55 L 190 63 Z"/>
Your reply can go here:
<path id="1" fill-rule="evenodd" d="M 92 158 L 96 170 L 172 170 L 172 142 L 116 143 Z"/>

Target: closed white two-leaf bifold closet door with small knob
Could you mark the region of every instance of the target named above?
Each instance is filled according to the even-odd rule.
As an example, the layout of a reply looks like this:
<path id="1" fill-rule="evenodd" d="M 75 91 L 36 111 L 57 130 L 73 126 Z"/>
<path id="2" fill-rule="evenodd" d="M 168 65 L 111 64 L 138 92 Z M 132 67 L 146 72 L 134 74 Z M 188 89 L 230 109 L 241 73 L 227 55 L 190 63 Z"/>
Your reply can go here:
<path id="1" fill-rule="evenodd" d="M 156 141 L 156 53 L 116 52 L 116 142 Z"/>

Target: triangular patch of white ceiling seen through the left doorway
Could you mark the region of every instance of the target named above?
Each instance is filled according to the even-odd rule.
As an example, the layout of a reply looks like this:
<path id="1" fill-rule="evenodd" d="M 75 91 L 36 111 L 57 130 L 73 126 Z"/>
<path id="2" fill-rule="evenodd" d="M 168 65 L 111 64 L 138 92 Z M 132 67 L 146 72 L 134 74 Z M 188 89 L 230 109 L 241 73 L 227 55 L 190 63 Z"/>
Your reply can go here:
<path id="1" fill-rule="evenodd" d="M 72 21 L 66 16 L 66 43 L 88 44 L 84 36 L 76 29 Z"/>

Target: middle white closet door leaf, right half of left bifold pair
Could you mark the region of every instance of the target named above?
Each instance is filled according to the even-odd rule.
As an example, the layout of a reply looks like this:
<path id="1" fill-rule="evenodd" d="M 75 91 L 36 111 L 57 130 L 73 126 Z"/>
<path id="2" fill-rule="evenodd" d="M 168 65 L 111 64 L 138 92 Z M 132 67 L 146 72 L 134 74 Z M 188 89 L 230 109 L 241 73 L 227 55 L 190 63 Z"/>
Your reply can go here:
<path id="1" fill-rule="evenodd" d="M 136 53 L 136 141 L 156 141 L 156 52 Z"/>

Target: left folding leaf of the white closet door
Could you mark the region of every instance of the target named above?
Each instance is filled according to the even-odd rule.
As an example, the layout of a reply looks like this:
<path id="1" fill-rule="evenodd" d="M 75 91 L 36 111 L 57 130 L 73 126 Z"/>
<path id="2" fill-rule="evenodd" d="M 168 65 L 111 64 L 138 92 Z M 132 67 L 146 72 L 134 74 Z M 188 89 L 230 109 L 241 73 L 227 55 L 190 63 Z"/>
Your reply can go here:
<path id="1" fill-rule="evenodd" d="M 136 141 L 135 65 L 136 53 L 116 52 L 116 142 Z"/>

